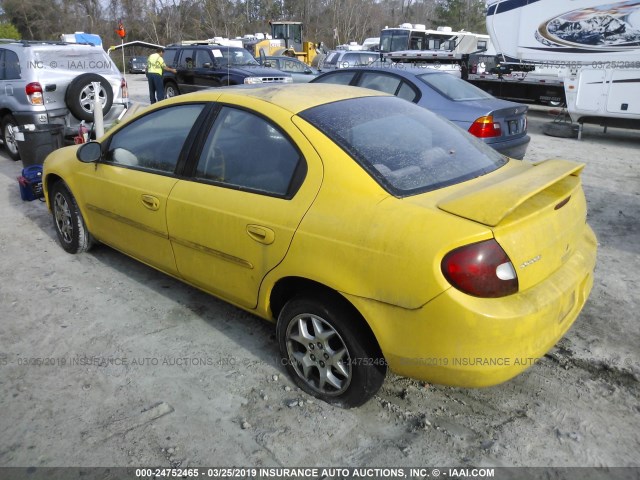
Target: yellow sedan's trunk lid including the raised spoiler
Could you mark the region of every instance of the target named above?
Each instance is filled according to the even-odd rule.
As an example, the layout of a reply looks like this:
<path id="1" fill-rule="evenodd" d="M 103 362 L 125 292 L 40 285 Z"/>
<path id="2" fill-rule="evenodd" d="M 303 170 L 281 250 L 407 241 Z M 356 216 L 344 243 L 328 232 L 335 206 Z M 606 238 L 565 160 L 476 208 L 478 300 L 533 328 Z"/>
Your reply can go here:
<path id="1" fill-rule="evenodd" d="M 491 227 L 513 263 L 520 290 L 526 290 L 560 268 L 584 233 L 583 168 L 566 160 L 520 163 L 470 182 L 438 208 Z"/>

